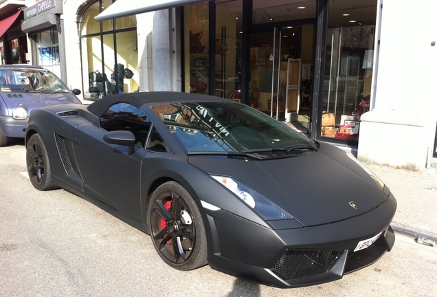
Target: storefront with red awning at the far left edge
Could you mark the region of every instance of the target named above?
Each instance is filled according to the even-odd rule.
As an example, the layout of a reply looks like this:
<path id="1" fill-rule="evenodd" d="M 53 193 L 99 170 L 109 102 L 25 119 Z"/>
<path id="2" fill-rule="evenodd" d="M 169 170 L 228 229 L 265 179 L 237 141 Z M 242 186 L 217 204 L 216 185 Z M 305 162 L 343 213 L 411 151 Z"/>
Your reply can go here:
<path id="1" fill-rule="evenodd" d="M 25 1 L 0 1 L 0 64 L 26 63 L 27 38 L 21 31 Z"/>

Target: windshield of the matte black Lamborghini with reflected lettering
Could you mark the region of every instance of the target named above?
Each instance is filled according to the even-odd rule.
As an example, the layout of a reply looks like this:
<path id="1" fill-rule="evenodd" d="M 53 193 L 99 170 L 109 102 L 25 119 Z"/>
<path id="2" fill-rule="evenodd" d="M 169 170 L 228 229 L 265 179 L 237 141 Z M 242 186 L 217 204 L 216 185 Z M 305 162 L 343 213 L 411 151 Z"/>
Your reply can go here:
<path id="1" fill-rule="evenodd" d="M 150 107 L 188 153 L 272 153 L 315 149 L 308 137 L 265 113 L 235 102 L 158 104 Z"/>

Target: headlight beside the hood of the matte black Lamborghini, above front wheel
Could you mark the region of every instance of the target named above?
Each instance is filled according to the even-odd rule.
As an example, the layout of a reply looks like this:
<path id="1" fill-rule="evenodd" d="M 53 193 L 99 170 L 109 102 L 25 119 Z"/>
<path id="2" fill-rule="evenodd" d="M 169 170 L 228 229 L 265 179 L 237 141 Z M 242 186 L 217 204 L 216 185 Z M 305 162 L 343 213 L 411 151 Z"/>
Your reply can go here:
<path id="1" fill-rule="evenodd" d="M 252 190 L 245 184 L 231 177 L 211 175 L 216 181 L 225 186 L 238 198 L 243 200 L 250 208 L 253 208 L 266 220 L 294 219 L 291 214 L 277 206 L 275 203 Z"/>

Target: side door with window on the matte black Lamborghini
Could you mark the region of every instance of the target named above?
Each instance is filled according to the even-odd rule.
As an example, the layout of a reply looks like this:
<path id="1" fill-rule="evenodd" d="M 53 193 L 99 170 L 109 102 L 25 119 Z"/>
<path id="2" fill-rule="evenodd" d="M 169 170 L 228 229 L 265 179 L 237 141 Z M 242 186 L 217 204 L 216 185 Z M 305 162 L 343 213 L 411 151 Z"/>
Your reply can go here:
<path id="1" fill-rule="evenodd" d="M 82 189 L 129 217 L 141 220 L 140 169 L 146 154 L 144 145 L 150 121 L 144 111 L 126 103 L 111 106 L 101 117 L 101 128 L 78 127 L 75 155 L 82 175 Z M 108 144 L 109 131 L 131 131 L 137 144 L 132 154 L 128 146 Z"/>

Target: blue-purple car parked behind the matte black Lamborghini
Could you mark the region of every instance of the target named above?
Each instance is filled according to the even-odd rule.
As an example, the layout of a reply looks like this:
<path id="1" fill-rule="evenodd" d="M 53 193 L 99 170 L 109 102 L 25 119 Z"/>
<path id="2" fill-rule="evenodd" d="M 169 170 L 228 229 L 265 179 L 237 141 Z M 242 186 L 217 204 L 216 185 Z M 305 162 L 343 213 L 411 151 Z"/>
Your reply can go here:
<path id="1" fill-rule="evenodd" d="M 80 104 L 56 75 L 39 66 L 0 65 L 0 146 L 10 138 L 23 138 L 30 111 L 55 104 Z"/>

